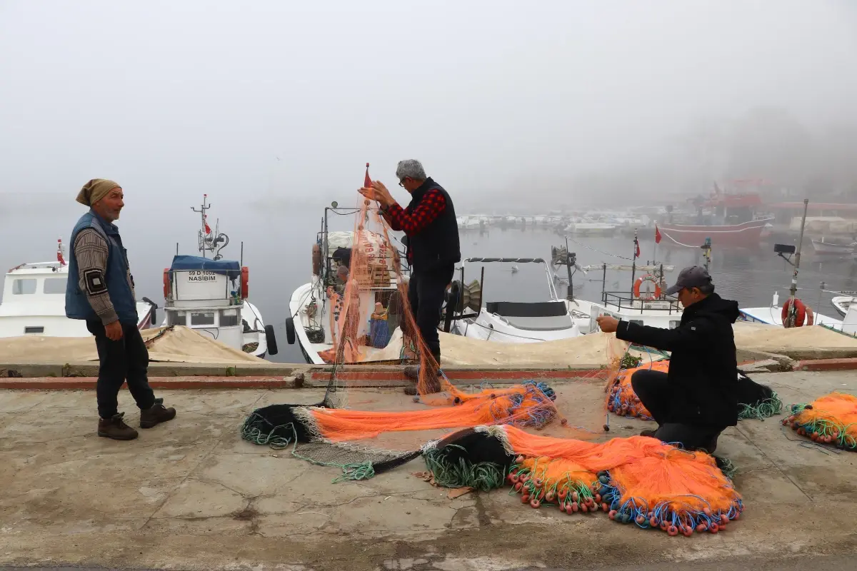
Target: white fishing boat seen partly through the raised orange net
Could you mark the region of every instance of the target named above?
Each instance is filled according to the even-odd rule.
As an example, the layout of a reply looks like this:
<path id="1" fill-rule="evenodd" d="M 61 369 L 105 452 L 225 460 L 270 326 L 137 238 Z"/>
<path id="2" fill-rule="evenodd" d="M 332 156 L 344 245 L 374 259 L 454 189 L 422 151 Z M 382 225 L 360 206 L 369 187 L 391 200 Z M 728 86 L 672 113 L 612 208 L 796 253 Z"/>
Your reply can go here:
<path id="1" fill-rule="evenodd" d="M 303 358 L 316 365 L 333 362 L 389 362 L 399 360 L 403 346 L 399 321 L 403 301 L 399 283 L 409 271 L 405 255 L 388 247 L 384 235 L 369 229 L 338 231 L 329 228 L 331 216 L 353 216 L 355 209 L 339 208 L 337 203 L 325 208 L 321 230 L 312 246 L 312 277 L 291 294 L 290 317 L 285 331 L 290 344 L 297 343 Z M 345 286 L 349 279 L 351 256 L 355 251 L 371 252 L 375 259 L 375 274 L 357 288 L 358 307 L 380 307 L 383 319 L 368 318 L 357 326 L 357 336 L 366 336 L 369 343 L 356 348 L 356 353 L 335 354 L 339 314 L 342 310 Z M 369 316 L 367 316 L 369 317 Z M 381 321 L 383 323 L 381 324 Z"/>

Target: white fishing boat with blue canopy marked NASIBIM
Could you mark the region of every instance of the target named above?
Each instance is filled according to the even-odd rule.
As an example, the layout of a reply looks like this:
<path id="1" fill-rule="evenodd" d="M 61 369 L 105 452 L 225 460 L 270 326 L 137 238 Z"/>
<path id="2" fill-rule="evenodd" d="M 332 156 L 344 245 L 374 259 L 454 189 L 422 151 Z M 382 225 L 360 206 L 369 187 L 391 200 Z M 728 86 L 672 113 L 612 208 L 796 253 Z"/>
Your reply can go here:
<path id="1" fill-rule="evenodd" d="M 199 256 L 176 255 L 164 270 L 165 327 L 183 325 L 214 341 L 264 359 L 277 354 L 272 325 L 262 321 L 259 308 L 250 303 L 249 268 L 242 261 L 223 259 L 220 253 L 229 236 L 207 223 L 211 205 L 202 195 Z M 207 258 L 212 253 L 212 258 Z M 243 257 L 243 245 L 242 245 Z"/>

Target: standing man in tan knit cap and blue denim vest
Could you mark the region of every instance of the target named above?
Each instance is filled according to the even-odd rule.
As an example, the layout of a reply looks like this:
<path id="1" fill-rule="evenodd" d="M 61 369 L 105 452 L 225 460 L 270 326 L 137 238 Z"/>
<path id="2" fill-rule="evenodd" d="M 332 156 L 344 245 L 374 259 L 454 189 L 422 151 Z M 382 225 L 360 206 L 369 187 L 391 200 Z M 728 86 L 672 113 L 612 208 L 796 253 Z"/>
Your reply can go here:
<path id="1" fill-rule="evenodd" d="M 65 291 L 65 314 L 84 319 L 99 350 L 99 437 L 133 440 L 137 431 L 117 411 L 117 396 L 123 383 L 140 407 L 140 427 L 152 428 L 176 418 L 175 408 L 166 408 L 149 386 L 149 353 L 137 329 L 134 278 L 128 256 L 113 224 L 125 205 L 122 187 L 96 178 L 77 195 L 89 211 L 71 231 L 69 282 Z"/>

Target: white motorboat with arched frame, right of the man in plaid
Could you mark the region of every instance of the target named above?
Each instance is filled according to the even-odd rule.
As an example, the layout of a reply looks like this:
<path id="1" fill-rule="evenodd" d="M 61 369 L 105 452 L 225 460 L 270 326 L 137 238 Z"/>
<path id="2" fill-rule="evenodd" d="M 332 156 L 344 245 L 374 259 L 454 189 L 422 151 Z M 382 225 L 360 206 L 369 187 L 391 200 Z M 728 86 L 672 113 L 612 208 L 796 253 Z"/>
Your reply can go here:
<path id="1" fill-rule="evenodd" d="M 472 316 L 452 318 L 450 331 L 482 341 L 530 343 L 580 335 L 578 325 L 560 300 L 548 263 L 541 258 L 468 258 L 465 263 L 543 264 L 548 277 L 549 300 L 536 302 L 489 301 Z M 478 296 L 482 300 L 482 293 Z"/>

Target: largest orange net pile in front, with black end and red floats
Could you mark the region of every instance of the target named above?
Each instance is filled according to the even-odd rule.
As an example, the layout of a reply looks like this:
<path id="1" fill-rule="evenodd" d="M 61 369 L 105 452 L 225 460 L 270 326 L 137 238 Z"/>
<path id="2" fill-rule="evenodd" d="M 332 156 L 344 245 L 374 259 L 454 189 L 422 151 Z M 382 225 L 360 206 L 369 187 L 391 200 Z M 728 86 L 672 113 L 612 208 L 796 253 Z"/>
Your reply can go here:
<path id="1" fill-rule="evenodd" d="M 508 484 L 532 508 L 603 512 L 673 536 L 719 532 L 743 510 L 740 494 L 710 455 L 655 438 L 589 443 L 513 426 L 478 426 L 447 437 L 423 456 L 444 485 L 490 490 Z"/>

